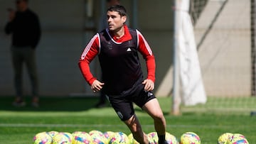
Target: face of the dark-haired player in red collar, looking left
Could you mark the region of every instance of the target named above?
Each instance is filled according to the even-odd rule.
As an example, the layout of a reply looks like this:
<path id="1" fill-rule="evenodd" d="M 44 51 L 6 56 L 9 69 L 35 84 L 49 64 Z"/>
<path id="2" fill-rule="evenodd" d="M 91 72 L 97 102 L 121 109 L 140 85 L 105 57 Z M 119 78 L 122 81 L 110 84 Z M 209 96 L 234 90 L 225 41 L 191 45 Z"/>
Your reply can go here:
<path id="1" fill-rule="evenodd" d="M 120 16 L 117 11 L 107 11 L 107 24 L 110 31 L 118 31 L 124 25 L 126 16 Z"/>

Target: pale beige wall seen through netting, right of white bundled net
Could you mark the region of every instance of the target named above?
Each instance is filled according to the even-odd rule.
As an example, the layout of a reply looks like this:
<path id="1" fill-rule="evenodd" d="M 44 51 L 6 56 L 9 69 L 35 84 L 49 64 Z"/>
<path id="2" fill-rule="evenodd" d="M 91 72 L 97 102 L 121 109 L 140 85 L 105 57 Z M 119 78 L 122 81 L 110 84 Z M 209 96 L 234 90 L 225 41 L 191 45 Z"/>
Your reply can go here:
<path id="1" fill-rule="evenodd" d="M 254 83 L 250 0 L 191 1 L 191 16 L 208 96 L 250 96 Z M 254 13 L 254 12 L 253 12 Z M 251 17 L 252 16 L 252 17 Z"/>

